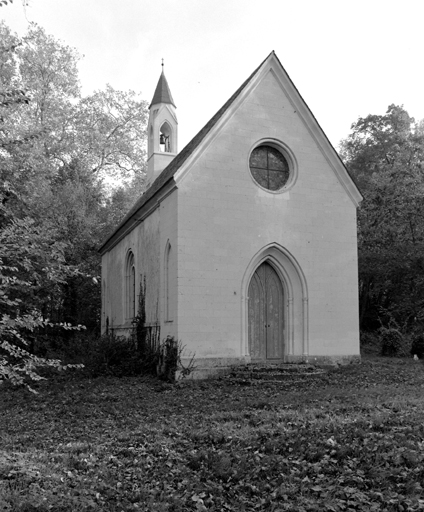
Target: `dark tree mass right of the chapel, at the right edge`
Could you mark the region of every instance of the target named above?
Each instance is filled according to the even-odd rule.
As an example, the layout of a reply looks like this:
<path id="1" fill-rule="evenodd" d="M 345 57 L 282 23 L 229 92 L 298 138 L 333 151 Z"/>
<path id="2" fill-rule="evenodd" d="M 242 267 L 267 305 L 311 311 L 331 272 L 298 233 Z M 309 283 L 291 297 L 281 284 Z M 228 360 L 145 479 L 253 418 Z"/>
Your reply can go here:
<path id="1" fill-rule="evenodd" d="M 365 329 L 424 321 L 424 131 L 403 107 L 352 125 L 342 158 L 358 211 L 360 321 Z"/>

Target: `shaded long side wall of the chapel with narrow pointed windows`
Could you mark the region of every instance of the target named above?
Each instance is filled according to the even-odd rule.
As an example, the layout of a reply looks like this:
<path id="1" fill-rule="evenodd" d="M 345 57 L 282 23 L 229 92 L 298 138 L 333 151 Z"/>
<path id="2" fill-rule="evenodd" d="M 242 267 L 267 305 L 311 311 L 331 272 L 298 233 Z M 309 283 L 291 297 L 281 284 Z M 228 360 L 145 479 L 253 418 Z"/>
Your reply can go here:
<path id="1" fill-rule="evenodd" d="M 116 334 L 127 335 L 126 267 L 134 254 L 136 313 L 141 286 L 145 286 L 146 324 L 160 326 L 160 338 L 177 332 L 177 194 L 157 208 L 102 257 L 102 332 L 106 320 Z"/>

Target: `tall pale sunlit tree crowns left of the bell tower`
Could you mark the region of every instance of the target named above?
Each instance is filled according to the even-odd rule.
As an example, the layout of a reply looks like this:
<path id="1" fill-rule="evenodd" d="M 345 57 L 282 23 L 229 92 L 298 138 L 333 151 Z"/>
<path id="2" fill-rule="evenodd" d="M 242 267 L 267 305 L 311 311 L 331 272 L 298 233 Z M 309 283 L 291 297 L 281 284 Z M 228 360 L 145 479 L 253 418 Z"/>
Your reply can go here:
<path id="1" fill-rule="evenodd" d="M 15 170 L 21 168 L 15 186 L 20 174 L 25 192 L 44 190 L 44 179 L 75 162 L 92 180 L 130 182 L 144 175 L 145 101 L 111 86 L 81 98 L 77 52 L 35 24 L 24 38 L 0 24 L 0 35 L 0 95 L 8 102 L 0 147 Z"/>

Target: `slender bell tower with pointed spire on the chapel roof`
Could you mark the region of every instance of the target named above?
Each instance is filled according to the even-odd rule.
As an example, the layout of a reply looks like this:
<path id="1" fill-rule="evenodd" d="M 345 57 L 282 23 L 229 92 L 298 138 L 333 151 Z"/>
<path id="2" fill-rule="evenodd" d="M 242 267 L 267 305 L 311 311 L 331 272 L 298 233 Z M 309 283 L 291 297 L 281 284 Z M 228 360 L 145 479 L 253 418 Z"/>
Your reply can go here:
<path id="1" fill-rule="evenodd" d="M 163 71 L 149 107 L 147 186 L 150 186 L 177 154 L 176 106 Z"/>

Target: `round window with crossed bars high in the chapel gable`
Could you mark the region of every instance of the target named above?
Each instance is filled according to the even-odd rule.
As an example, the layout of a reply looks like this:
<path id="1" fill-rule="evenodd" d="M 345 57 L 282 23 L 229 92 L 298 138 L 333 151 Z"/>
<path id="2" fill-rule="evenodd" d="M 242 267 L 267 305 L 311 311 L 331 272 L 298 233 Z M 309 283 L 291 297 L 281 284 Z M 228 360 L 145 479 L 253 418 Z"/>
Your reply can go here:
<path id="1" fill-rule="evenodd" d="M 267 190 L 282 189 L 290 178 L 286 157 L 272 146 L 255 148 L 250 155 L 249 166 L 253 179 Z"/>

